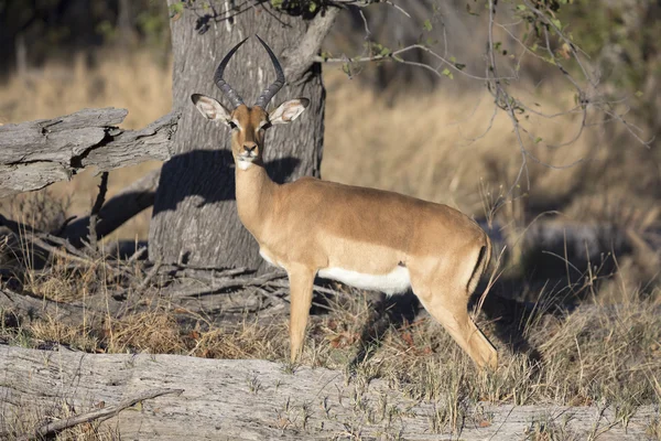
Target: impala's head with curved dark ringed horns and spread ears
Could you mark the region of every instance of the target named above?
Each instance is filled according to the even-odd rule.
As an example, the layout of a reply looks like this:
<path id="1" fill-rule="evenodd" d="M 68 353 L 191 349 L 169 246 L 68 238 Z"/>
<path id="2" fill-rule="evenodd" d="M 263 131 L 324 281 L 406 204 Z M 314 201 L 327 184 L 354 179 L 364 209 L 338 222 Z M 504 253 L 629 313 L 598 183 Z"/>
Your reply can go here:
<path id="1" fill-rule="evenodd" d="M 271 47 L 259 35 L 257 37 L 269 53 L 278 78 L 257 98 L 254 106 L 246 106 L 239 94 L 223 79 L 225 66 L 227 66 L 235 52 L 248 39 L 234 46 L 225 55 L 214 75 L 216 86 L 223 90 L 227 99 L 231 103 L 231 111 L 212 97 L 199 94 L 191 96 L 193 104 L 205 118 L 223 122 L 231 129 L 231 153 L 237 166 L 241 170 L 247 170 L 253 162 L 261 163 L 264 133 L 268 128 L 273 125 L 293 121 L 310 104 L 307 98 L 291 99 L 281 104 L 271 112 L 267 112 L 267 105 L 284 85 L 284 73 Z"/>

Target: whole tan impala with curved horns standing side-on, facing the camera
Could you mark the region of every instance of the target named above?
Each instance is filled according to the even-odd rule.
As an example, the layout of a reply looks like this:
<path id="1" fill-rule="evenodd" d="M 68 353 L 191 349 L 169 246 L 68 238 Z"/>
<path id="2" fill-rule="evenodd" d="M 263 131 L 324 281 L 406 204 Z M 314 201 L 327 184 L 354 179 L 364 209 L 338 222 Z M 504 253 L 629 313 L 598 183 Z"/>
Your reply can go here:
<path id="1" fill-rule="evenodd" d="M 263 163 L 264 132 L 296 119 L 306 98 L 267 105 L 284 85 L 273 51 L 258 36 L 277 79 L 248 107 L 223 78 L 237 44 L 216 69 L 214 80 L 232 106 L 194 94 L 209 120 L 231 129 L 239 218 L 260 246 L 260 255 L 283 268 L 290 281 L 291 357 L 300 355 L 316 276 L 387 294 L 415 293 L 479 366 L 496 368 L 497 353 L 468 315 L 468 300 L 489 263 L 491 244 L 473 219 L 446 205 L 398 193 L 343 185 L 313 178 L 277 184 Z"/>

